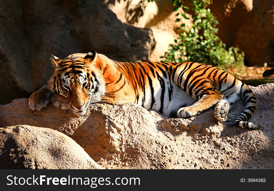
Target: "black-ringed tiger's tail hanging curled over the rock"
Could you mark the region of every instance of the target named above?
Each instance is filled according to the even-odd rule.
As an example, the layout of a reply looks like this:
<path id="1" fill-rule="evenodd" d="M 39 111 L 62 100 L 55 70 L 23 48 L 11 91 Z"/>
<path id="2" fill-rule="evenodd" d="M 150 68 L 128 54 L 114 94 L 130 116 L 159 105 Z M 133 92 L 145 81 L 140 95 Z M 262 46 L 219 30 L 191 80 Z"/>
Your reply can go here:
<path id="1" fill-rule="evenodd" d="M 251 118 L 257 107 L 257 101 L 253 91 L 245 83 L 242 82 L 239 94 L 245 103 L 245 107 L 242 113 L 240 113 L 235 120 L 235 125 L 242 128 L 250 128 L 256 130 L 260 129 L 261 127 L 257 123 L 247 122 L 247 120 Z"/>

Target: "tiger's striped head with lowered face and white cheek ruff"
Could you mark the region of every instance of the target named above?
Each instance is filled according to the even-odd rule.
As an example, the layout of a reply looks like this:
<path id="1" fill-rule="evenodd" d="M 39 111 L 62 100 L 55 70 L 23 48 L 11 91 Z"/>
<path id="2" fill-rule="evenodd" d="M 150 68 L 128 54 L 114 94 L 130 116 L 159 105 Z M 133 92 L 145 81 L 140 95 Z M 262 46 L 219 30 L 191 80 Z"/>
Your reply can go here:
<path id="1" fill-rule="evenodd" d="M 48 84 L 55 95 L 52 103 L 64 110 L 83 115 L 101 100 L 106 88 L 102 72 L 96 67 L 97 54 L 71 54 L 64 59 L 51 55 L 54 72 Z"/>

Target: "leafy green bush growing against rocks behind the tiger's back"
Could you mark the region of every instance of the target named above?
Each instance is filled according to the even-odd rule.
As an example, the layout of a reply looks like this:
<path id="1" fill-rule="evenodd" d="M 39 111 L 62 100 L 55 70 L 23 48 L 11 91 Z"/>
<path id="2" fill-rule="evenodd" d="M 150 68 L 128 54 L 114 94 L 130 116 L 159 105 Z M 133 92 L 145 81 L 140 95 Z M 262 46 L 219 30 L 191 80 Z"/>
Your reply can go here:
<path id="1" fill-rule="evenodd" d="M 149 0 L 153 1 L 153 0 Z M 243 52 L 239 48 L 229 47 L 216 35 L 218 21 L 206 8 L 212 0 L 189 0 L 190 7 L 184 4 L 186 0 L 172 0 L 175 6 L 177 19 L 175 22 L 182 22 L 182 18 L 190 19 L 185 12 L 191 11 L 192 26 L 188 30 L 182 22 L 180 37 L 170 44 L 168 52 L 161 58 L 164 62 L 185 62 L 196 61 L 217 66 L 223 70 L 230 67 L 243 67 Z M 183 12 L 183 11 L 184 12 Z"/>

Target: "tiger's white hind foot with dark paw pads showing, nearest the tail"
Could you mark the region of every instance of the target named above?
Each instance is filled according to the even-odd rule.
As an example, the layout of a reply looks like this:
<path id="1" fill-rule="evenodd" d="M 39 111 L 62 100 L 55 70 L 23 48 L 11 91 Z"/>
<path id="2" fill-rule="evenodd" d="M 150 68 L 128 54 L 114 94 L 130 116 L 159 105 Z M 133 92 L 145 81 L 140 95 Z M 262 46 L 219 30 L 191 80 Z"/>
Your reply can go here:
<path id="1" fill-rule="evenodd" d="M 219 121 L 226 121 L 227 114 L 234 107 L 236 101 L 240 99 L 238 94 L 233 94 L 223 100 L 220 100 L 214 109 L 214 116 Z"/>

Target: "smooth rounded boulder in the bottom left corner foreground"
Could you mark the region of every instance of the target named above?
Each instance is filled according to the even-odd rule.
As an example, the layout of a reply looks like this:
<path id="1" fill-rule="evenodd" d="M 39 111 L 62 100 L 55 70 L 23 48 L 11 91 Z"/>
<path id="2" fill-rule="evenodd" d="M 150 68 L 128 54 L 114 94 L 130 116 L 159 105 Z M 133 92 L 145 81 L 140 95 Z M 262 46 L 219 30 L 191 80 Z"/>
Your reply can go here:
<path id="1" fill-rule="evenodd" d="M 1 169 L 102 169 L 75 141 L 50 128 L 0 128 Z"/>

